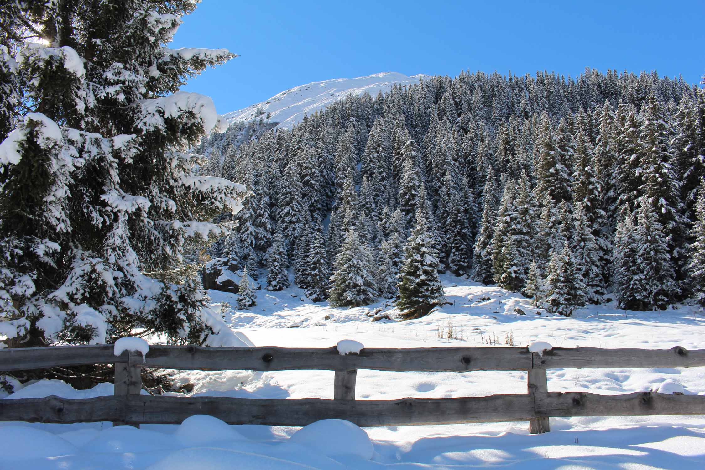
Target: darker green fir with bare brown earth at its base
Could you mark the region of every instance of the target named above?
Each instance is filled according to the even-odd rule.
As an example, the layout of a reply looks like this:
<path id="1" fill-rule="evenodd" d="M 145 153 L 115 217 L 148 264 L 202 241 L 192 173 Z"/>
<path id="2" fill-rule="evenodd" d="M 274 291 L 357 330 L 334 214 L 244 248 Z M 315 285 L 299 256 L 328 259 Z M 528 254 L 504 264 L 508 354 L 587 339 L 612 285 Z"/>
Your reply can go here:
<path id="1" fill-rule="evenodd" d="M 445 300 L 439 279 L 439 252 L 429 236 L 431 227 L 418 211 L 416 226 L 407 240 L 404 263 L 399 273 L 396 307 L 406 319 L 419 318 Z"/>

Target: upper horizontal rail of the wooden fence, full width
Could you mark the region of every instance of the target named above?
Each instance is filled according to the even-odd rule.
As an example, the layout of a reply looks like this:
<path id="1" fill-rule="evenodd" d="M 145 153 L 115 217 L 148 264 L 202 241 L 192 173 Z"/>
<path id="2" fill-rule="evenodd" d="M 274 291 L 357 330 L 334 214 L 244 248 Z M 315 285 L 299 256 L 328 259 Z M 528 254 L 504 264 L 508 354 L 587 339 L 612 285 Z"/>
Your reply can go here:
<path id="1" fill-rule="evenodd" d="M 141 358 L 141 357 L 140 357 Z M 137 360 L 137 359 L 135 359 Z M 138 359 L 142 361 L 142 359 Z M 32 347 L 0 350 L 0 371 L 46 369 L 53 366 L 118 364 L 111 345 Z M 600 349 L 554 347 L 543 356 L 526 347 L 366 347 L 360 354 L 341 356 L 336 347 L 149 347 L 144 366 L 165 369 L 228 371 L 325 370 L 348 371 L 528 371 L 530 369 L 584 369 L 600 367 L 705 366 L 705 350 Z"/>

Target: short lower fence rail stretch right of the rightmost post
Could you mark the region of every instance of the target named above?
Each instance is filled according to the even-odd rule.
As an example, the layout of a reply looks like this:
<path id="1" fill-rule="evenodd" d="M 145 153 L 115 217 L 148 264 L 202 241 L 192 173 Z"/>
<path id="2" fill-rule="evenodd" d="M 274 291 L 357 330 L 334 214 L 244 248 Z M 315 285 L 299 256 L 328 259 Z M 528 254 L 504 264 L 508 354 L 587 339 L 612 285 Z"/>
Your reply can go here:
<path id="1" fill-rule="evenodd" d="M 634 392 L 598 395 L 587 392 L 536 393 L 536 416 L 655 416 L 705 414 L 704 395 Z"/>

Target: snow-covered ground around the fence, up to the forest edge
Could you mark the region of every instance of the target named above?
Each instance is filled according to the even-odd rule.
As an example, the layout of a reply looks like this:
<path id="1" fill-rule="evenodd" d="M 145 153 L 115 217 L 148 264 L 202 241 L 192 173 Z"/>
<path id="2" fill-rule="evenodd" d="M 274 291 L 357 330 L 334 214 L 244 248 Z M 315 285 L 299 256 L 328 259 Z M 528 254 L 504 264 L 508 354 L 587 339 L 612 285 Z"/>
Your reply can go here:
<path id="1" fill-rule="evenodd" d="M 365 347 L 525 346 L 542 340 L 556 347 L 705 348 L 705 316 L 699 307 L 635 312 L 606 304 L 580 309 L 567 319 L 537 311 L 529 300 L 498 287 L 453 276 L 443 276 L 443 283 L 453 305 L 403 323 L 373 321 L 385 312 L 393 314 L 389 302 L 336 309 L 325 302 L 306 302 L 295 287 L 260 290 L 256 307 L 228 311 L 226 320 L 258 346 L 331 347 L 348 339 Z M 236 304 L 234 295 L 209 294 L 214 302 Z M 331 371 L 174 375 L 180 383 L 194 383 L 196 396 L 333 397 Z M 705 395 L 705 368 L 555 369 L 548 371 L 548 390 L 603 395 L 682 390 Z M 522 372 L 357 373 L 357 400 L 526 391 Z M 112 387 L 75 391 L 43 381 L 11 397 L 51 393 L 92 397 L 110 395 Z M 326 421 L 297 433 L 298 428 L 227 426 L 208 418 L 181 426 L 144 425 L 140 431 L 111 428 L 109 423 L 0 423 L 0 469 L 705 468 L 705 416 L 552 418 L 551 432 L 542 435 L 529 435 L 525 422 L 365 428 L 374 448 L 371 459 L 368 443 L 356 429 Z M 26 460 L 30 456 L 35 459 Z"/>

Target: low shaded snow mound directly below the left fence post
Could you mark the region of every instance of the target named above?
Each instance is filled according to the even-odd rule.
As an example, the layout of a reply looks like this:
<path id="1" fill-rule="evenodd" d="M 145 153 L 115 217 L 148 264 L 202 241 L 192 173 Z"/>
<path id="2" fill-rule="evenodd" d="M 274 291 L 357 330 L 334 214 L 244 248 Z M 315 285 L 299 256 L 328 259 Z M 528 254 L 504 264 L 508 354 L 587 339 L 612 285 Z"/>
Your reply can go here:
<path id="1" fill-rule="evenodd" d="M 175 443 L 168 434 L 137 429 L 134 426 L 115 426 L 114 428 L 104 428 L 93 439 L 82 445 L 81 450 L 83 452 L 121 454 L 123 452 L 170 450 L 176 447 L 178 447 L 178 443 Z"/>

